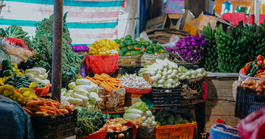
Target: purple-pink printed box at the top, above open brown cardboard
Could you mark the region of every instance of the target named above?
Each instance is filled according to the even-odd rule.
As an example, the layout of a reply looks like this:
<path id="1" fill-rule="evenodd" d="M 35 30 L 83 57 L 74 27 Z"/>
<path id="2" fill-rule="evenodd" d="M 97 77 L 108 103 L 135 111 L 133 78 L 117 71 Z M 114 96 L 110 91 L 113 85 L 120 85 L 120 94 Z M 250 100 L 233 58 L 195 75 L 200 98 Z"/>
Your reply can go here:
<path id="1" fill-rule="evenodd" d="M 185 0 L 168 0 L 163 3 L 163 13 L 167 14 L 184 14 Z"/>

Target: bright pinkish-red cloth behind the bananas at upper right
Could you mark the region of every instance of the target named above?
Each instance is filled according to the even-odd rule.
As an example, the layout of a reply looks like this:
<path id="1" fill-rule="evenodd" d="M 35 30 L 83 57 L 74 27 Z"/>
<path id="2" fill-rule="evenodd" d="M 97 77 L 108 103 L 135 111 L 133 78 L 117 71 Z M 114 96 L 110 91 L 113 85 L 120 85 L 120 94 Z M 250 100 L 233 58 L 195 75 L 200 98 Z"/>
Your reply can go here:
<path id="1" fill-rule="evenodd" d="M 232 22 L 234 26 L 238 25 L 238 22 L 242 20 L 244 24 L 247 24 L 250 21 L 250 17 L 245 13 L 225 13 L 221 18 Z"/>

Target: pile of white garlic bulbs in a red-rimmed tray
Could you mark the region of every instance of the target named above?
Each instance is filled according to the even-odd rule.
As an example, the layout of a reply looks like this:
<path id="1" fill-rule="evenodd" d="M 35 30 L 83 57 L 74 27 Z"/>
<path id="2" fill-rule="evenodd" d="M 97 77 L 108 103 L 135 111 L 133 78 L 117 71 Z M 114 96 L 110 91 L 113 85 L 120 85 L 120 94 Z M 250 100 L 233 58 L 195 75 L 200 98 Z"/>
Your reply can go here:
<path id="1" fill-rule="evenodd" d="M 120 78 L 120 84 L 124 87 L 129 88 L 136 88 L 136 89 L 148 89 L 152 86 L 148 83 L 148 81 L 145 81 L 143 77 L 139 77 L 136 74 L 126 74 L 125 76 Z"/>

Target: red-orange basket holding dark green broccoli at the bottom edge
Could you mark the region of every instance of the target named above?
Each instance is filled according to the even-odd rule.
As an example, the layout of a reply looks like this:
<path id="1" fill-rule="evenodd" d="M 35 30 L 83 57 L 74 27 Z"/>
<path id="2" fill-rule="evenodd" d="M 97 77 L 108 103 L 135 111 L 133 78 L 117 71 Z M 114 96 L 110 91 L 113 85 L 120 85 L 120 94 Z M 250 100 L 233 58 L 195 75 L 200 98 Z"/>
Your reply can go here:
<path id="1" fill-rule="evenodd" d="M 78 139 L 104 139 L 107 136 L 108 132 L 108 125 L 107 123 L 103 125 L 102 128 L 100 128 L 98 131 L 89 134 L 88 136 L 82 136 L 79 137 Z"/>

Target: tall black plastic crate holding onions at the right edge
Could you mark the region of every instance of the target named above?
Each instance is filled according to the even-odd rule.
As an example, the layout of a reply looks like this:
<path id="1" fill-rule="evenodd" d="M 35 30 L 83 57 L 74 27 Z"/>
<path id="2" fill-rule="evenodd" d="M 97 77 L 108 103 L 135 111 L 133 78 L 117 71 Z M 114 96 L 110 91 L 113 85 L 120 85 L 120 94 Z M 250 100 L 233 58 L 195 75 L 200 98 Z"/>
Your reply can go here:
<path id="1" fill-rule="evenodd" d="M 265 108 L 265 91 L 256 93 L 248 87 L 238 86 L 235 116 L 245 118 L 248 114 Z"/>

